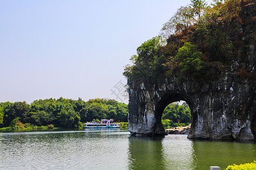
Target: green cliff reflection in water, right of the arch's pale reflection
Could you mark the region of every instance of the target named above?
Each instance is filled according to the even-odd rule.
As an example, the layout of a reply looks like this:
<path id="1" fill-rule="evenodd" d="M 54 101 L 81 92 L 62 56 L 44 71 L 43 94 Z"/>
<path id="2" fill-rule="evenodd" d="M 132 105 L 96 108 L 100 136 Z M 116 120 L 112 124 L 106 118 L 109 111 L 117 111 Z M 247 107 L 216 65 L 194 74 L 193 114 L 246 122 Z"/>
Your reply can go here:
<path id="1" fill-rule="evenodd" d="M 216 165 L 225 169 L 228 165 L 251 163 L 256 159 L 254 142 L 224 142 L 193 140 L 197 159 L 196 169 L 208 169 Z"/>

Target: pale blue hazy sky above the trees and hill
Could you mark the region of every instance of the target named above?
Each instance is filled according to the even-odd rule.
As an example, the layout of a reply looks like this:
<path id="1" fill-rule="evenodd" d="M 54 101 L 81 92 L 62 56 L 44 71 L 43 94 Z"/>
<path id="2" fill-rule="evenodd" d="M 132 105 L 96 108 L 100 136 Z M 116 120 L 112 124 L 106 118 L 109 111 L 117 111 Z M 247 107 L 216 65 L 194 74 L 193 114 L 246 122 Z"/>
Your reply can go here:
<path id="1" fill-rule="evenodd" d="M 122 75 L 190 0 L 0 0 L 0 102 L 64 97 L 128 103 Z"/>

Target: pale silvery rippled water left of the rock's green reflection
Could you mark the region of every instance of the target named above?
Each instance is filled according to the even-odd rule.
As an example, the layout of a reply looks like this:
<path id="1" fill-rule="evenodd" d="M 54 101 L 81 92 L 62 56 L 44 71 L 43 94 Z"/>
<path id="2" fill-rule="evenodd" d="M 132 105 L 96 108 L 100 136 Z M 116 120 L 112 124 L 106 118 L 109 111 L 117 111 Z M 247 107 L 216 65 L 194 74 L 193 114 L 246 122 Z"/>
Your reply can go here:
<path id="1" fill-rule="evenodd" d="M 0 169 L 125 169 L 129 132 L 0 133 Z"/>

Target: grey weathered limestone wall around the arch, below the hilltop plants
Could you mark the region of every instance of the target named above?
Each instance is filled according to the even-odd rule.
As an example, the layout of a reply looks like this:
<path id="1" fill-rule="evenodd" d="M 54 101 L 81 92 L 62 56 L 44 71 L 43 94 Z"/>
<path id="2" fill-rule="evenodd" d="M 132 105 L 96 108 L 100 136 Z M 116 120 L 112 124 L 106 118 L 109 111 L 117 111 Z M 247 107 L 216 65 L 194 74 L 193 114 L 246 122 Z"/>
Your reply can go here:
<path id="1" fill-rule="evenodd" d="M 254 139 L 255 91 L 249 91 L 246 83 L 234 82 L 230 77 L 224 75 L 225 80 L 215 82 L 182 83 L 130 80 L 130 132 L 164 134 L 163 109 L 174 101 L 184 100 L 192 112 L 189 138 Z"/>

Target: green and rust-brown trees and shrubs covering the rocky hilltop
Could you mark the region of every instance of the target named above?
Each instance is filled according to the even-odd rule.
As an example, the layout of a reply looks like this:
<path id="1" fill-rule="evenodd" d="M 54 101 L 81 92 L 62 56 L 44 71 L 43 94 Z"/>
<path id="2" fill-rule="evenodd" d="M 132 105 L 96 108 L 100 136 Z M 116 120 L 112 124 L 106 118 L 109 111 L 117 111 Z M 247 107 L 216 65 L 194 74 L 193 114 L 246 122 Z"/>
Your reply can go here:
<path id="1" fill-rule="evenodd" d="M 126 65 L 127 78 L 158 79 L 161 76 L 215 80 L 230 63 L 246 62 L 245 33 L 242 25 L 255 25 L 245 19 L 242 6 L 251 0 L 215 0 L 210 6 L 204 0 L 191 0 L 180 7 L 163 25 L 160 36 L 153 37 L 137 48 Z M 255 28 L 251 39 L 255 44 Z M 247 70 L 247 71 L 246 71 Z M 241 66 L 238 76 L 249 71 Z M 161 76 L 159 76 L 161 75 Z"/>

